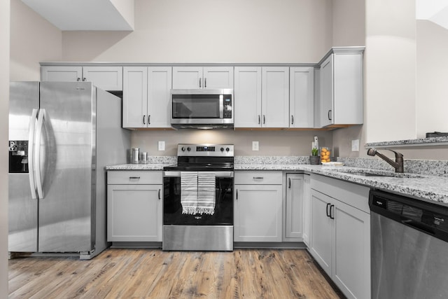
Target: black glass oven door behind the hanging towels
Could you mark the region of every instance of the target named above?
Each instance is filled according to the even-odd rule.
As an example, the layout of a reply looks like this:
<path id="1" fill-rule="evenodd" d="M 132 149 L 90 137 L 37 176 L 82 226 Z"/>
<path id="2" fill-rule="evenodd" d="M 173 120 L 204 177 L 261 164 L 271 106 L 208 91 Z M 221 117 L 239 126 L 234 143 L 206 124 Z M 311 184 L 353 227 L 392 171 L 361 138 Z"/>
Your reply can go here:
<path id="1" fill-rule="evenodd" d="M 181 172 L 165 171 L 163 177 L 164 225 L 233 225 L 233 172 L 215 174 L 214 214 L 183 214 L 181 204 Z"/>

